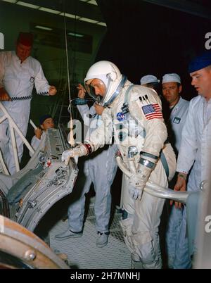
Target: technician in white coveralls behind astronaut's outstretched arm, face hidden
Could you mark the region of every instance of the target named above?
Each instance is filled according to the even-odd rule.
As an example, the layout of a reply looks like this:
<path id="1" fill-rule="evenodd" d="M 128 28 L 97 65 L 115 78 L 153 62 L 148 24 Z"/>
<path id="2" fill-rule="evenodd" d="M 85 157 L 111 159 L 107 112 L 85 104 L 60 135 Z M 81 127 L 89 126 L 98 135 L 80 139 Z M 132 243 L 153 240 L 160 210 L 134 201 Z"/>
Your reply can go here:
<path id="1" fill-rule="evenodd" d="M 82 84 L 79 84 L 78 89 L 78 97 L 84 99 L 85 89 L 82 87 Z M 87 140 L 91 132 L 102 124 L 101 114 L 104 108 L 95 103 L 91 108 L 89 108 L 87 104 L 77 105 L 77 109 L 84 120 L 84 124 L 89 125 L 86 136 Z M 86 161 L 84 161 L 83 174 L 85 181 L 83 189 L 79 191 L 79 188 L 75 186 L 75 193 L 77 194 L 77 191 L 79 191 L 79 195 L 77 196 L 77 200 L 72 202 L 68 208 L 68 230 L 56 235 L 56 239 L 63 240 L 82 236 L 85 194 L 89 192 L 91 184 L 93 183 L 96 192 L 94 201 L 97 231 L 96 246 L 103 248 L 103 246 L 108 244 L 111 210 L 110 187 L 117 172 L 117 163 L 115 161 L 116 151 L 117 146 L 115 144 L 110 146 L 106 145 L 103 149 L 89 156 Z"/>

